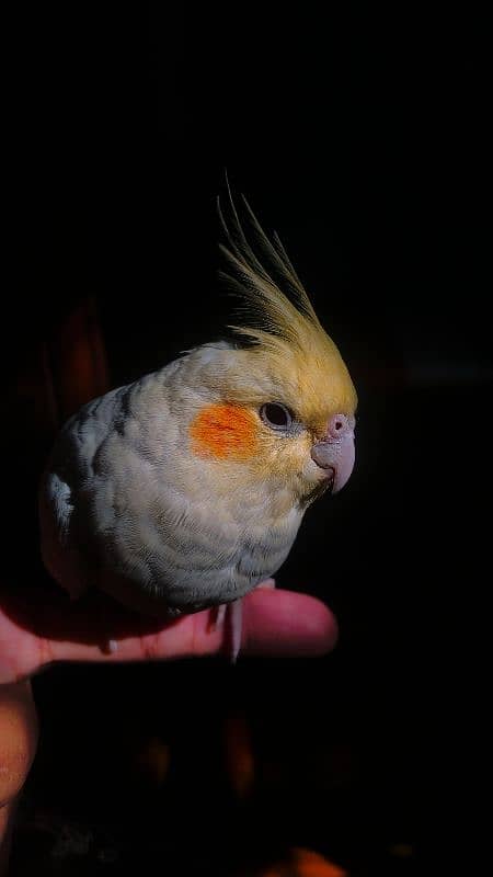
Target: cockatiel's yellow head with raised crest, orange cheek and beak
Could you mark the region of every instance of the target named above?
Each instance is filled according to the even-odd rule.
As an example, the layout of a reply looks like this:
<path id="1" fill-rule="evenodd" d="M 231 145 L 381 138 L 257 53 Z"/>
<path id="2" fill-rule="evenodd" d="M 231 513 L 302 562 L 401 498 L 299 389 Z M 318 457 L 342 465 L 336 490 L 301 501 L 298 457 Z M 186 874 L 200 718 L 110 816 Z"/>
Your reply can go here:
<path id="1" fill-rule="evenodd" d="M 231 486 L 240 469 L 303 506 L 351 476 L 356 391 L 277 236 L 272 243 L 251 212 L 250 221 L 256 251 L 234 209 L 232 228 L 223 224 L 223 276 L 244 319 L 231 327 L 238 343 L 199 349 L 191 447 Z"/>

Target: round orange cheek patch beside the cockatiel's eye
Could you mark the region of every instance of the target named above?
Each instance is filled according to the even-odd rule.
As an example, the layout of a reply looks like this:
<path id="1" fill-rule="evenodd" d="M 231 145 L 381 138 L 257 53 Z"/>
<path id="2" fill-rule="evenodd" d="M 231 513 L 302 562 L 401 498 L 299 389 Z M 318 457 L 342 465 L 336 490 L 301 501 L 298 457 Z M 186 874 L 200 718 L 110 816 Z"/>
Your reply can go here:
<path id="1" fill-rule="evenodd" d="M 254 415 L 234 405 L 204 408 L 190 425 L 196 454 L 237 460 L 252 457 L 257 449 L 257 423 Z"/>

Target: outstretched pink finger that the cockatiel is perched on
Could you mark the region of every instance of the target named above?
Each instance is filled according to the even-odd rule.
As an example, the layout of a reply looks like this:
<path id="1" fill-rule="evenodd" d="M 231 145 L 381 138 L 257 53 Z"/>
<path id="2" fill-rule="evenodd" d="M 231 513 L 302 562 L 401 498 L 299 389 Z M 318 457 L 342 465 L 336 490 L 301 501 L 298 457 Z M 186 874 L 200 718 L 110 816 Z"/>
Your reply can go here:
<path id="1" fill-rule="evenodd" d="M 214 611 L 177 620 L 144 618 L 102 593 L 71 602 L 57 586 L 0 593 L 0 685 L 59 661 L 171 660 L 220 652 L 227 631 Z M 260 588 L 243 601 L 243 654 L 317 656 L 336 641 L 336 622 L 312 596 Z M 116 641 L 110 652 L 105 646 Z"/>

